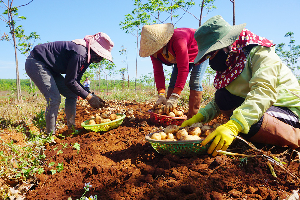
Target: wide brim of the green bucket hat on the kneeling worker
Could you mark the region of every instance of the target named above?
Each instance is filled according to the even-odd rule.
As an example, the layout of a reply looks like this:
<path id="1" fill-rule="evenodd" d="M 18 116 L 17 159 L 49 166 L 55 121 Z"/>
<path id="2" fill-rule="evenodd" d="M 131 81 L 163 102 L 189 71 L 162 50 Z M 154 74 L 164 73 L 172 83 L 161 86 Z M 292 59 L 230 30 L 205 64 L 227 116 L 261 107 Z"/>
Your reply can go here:
<path id="1" fill-rule="evenodd" d="M 195 64 L 199 63 L 199 61 L 206 54 L 209 54 L 212 51 L 223 49 L 227 46 L 232 45 L 235 42 L 235 40 L 238 38 L 238 36 L 241 34 L 245 25 L 246 25 L 246 23 L 232 26 L 231 30 L 222 39 L 220 39 L 219 41 L 217 41 L 210 47 L 203 49 L 202 51 L 199 51 L 194 60 L 194 63 Z M 205 38 L 203 38 L 203 40 L 205 40 Z"/>

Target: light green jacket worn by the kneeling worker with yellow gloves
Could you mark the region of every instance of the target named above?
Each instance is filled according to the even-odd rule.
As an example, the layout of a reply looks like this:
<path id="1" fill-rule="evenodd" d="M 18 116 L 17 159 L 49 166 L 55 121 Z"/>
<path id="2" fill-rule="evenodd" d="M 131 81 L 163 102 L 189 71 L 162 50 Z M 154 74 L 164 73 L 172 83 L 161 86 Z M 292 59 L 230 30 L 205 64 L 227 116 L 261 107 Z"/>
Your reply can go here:
<path id="1" fill-rule="evenodd" d="M 255 46 L 247 57 L 243 72 L 225 87 L 231 94 L 245 98 L 230 119 L 238 122 L 242 133 L 258 122 L 272 105 L 288 107 L 300 116 L 300 86 L 291 70 L 275 53 L 275 47 Z M 221 114 L 215 100 L 199 109 L 204 123 Z"/>

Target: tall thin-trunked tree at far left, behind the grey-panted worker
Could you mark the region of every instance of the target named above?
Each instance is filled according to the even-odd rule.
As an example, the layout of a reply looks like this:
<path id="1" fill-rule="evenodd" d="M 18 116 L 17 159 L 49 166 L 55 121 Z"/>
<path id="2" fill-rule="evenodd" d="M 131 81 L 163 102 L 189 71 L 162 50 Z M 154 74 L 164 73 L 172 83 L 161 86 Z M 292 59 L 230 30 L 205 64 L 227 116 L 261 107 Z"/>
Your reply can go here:
<path id="1" fill-rule="evenodd" d="M 29 3 L 21 5 L 25 6 L 28 5 L 32 2 L 31 0 Z M 0 1 L 0 3 L 4 4 L 5 6 L 5 11 L 3 12 L 3 15 L 0 15 L 0 19 L 7 23 L 7 27 L 10 29 L 10 34 L 13 40 L 13 46 L 15 50 L 15 62 L 16 62 L 16 96 L 17 99 L 21 99 L 22 93 L 21 93 L 21 84 L 20 84 L 20 77 L 19 77 L 19 64 L 18 64 L 18 56 L 17 56 L 17 43 L 16 43 L 16 31 L 15 31 L 15 25 L 16 21 L 14 20 L 18 16 L 18 7 L 21 6 L 13 6 L 13 0 L 8 0 L 8 4 L 5 4 L 3 1 Z M 7 18 L 4 17 L 4 15 L 7 15 Z M 19 19 L 26 19 L 26 17 L 19 16 Z M 5 35 L 5 34 L 4 34 Z M 1 37 L 1 40 L 3 38 Z"/>

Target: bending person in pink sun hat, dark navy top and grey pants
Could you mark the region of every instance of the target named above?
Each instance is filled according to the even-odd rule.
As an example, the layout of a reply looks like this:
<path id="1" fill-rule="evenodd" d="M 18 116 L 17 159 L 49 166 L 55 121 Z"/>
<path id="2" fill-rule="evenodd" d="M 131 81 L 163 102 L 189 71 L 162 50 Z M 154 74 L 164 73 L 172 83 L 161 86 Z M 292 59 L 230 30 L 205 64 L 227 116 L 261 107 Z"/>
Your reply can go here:
<path id="1" fill-rule="evenodd" d="M 110 53 L 113 46 L 110 37 L 100 32 L 83 39 L 39 44 L 30 52 L 25 70 L 46 99 L 47 134 L 55 134 L 60 94 L 66 97 L 64 110 L 69 130 L 75 126 L 77 96 L 86 99 L 93 108 L 104 106 L 105 101 L 90 93 L 79 81 L 91 63 L 103 58 L 113 62 Z"/>

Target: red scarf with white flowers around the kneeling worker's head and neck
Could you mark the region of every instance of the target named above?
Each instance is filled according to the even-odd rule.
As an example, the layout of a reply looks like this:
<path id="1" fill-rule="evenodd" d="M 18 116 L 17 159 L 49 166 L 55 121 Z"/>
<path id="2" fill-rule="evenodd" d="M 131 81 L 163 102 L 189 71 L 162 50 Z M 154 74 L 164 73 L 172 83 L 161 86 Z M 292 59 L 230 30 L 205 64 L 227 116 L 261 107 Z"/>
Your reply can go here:
<path id="1" fill-rule="evenodd" d="M 229 85 L 244 70 L 247 59 L 244 51 L 242 51 L 242 48 L 249 44 L 257 44 L 265 47 L 272 47 L 275 45 L 270 40 L 264 37 L 259 37 L 248 29 L 244 28 L 238 39 L 231 46 L 229 46 L 229 48 L 231 47 L 231 51 L 229 51 L 226 60 L 228 69 L 226 69 L 224 72 L 217 71 L 216 77 L 214 78 L 214 87 L 217 90 Z"/>

